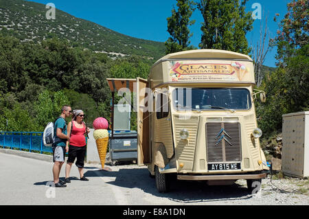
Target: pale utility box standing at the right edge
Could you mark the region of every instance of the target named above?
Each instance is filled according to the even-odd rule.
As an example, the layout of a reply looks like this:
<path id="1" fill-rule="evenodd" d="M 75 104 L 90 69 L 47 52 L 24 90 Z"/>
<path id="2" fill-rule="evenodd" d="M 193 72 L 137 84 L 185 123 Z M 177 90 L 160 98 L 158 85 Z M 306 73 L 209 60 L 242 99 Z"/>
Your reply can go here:
<path id="1" fill-rule="evenodd" d="M 309 111 L 282 115 L 282 172 L 309 176 Z"/>

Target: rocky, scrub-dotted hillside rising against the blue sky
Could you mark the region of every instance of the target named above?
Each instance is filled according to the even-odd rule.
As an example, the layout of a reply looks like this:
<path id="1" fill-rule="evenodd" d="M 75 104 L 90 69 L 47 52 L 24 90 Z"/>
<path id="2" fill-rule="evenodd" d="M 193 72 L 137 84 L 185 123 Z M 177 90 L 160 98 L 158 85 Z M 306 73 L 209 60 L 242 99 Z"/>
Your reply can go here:
<path id="1" fill-rule="evenodd" d="M 56 10 L 56 19 L 48 20 L 47 10 L 41 3 L 0 0 L 0 30 L 21 41 L 40 42 L 54 36 L 65 38 L 73 46 L 107 53 L 109 56 L 136 54 L 157 60 L 164 55 L 164 43 L 119 34 L 61 10 Z"/>

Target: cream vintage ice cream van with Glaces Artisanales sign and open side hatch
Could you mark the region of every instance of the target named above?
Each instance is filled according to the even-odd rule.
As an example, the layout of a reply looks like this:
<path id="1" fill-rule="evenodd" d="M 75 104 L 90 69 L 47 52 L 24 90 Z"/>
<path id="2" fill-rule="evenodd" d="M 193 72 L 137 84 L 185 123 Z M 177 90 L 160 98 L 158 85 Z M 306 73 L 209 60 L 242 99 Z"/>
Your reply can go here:
<path id="1" fill-rule="evenodd" d="M 228 185 L 247 180 L 258 192 L 269 165 L 260 148 L 253 60 L 244 54 L 196 49 L 157 60 L 146 79 L 108 78 L 114 92 L 135 91 L 138 164 L 159 192 L 177 180 Z M 128 97 L 128 95 L 127 95 Z"/>

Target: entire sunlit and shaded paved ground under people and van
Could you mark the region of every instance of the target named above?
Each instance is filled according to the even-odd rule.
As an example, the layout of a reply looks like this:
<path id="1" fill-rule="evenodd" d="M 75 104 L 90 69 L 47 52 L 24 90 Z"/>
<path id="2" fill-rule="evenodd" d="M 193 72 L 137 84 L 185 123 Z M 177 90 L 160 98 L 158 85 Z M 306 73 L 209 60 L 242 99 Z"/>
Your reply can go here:
<path id="1" fill-rule="evenodd" d="M 262 192 L 250 195 L 245 182 L 207 186 L 204 182 L 173 181 L 168 194 L 160 194 L 146 167 L 85 165 L 80 181 L 72 166 L 71 183 L 65 188 L 47 187 L 52 181 L 52 162 L 0 152 L 0 205 L 308 205 L 308 196 L 286 194 L 267 179 Z M 65 176 L 62 168 L 60 178 Z M 75 178 L 74 178 L 75 177 Z"/>

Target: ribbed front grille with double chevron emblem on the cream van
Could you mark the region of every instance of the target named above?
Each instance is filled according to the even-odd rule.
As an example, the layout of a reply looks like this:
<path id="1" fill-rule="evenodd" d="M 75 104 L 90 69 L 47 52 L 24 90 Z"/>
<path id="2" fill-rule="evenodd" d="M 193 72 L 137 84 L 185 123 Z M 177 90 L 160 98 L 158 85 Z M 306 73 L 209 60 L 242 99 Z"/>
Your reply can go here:
<path id="1" fill-rule="evenodd" d="M 207 162 L 241 161 L 239 122 L 206 123 Z"/>

